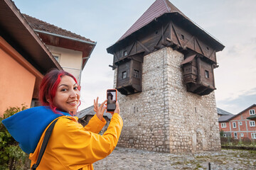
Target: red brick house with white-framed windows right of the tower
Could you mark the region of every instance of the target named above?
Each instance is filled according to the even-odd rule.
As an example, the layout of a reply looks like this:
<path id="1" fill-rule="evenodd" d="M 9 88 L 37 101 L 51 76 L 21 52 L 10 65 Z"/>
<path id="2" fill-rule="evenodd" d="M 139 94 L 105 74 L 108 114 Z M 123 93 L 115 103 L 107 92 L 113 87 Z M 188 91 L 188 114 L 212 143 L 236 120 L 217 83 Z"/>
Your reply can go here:
<path id="1" fill-rule="evenodd" d="M 237 115 L 223 115 L 218 118 L 219 128 L 223 130 L 224 137 L 234 137 L 242 140 L 245 137 L 250 140 L 256 139 L 255 118 L 256 104 L 246 108 Z"/>

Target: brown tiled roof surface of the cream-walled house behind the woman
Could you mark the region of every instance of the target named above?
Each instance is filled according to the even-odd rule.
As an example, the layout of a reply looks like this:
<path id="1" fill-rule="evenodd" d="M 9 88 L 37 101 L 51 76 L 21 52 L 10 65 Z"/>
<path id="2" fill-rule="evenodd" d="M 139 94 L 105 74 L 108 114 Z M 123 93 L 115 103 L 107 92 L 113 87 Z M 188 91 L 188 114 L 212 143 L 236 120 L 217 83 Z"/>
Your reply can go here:
<path id="1" fill-rule="evenodd" d="M 31 16 L 26 15 L 25 13 L 23 13 L 23 16 L 26 18 L 26 20 L 28 21 L 28 23 L 30 24 L 30 26 L 34 29 L 34 30 L 41 30 L 41 31 L 45 31 L 48 33 L 53 33 L 56 35 L 62 35 L 68 38 L 75 38 L 78 40 L 85 40 L 88 42 L 94 42 L 88 38 L 82 37 L 81 35 L 77 35 L 75 33 L 72 33 L 68 30 L 64 30 L 63 28 L 59 28 L 57 26 L 54 26 L 50 23 L 46 23 L 44 21 L 41 21 L 37 18 L 33 18 Z"/>

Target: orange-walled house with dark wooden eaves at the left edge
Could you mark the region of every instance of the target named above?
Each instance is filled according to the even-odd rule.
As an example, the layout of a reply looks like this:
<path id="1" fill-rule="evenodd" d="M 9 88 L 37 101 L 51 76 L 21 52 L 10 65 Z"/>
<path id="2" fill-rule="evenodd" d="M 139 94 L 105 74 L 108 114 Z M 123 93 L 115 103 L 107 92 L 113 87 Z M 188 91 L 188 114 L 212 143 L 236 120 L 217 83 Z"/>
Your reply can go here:
<path id="1" fill-rule="evenodd" d="M 0 116 L 9 107 L 31 106 L 43 74 L 62 69 L 11 0 L 0 0 Z"/>

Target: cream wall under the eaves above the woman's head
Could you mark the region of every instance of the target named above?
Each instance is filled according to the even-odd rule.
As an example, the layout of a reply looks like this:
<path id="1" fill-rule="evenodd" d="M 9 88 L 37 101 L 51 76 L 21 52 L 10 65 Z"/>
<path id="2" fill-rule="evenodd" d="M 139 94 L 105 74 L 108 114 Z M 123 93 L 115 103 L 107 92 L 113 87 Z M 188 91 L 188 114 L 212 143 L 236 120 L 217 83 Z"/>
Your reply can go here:
<path id="1" fill-rule="evenodd" d="M 63 67 L 66 72 L 73 74 L 78 82 L 80 82 L 80 72 L 82 69 L 82 52 L 69 50 L 63 47 L 55 47 L 53 45 L 47 46 L 53 55 L 59 57 L 58 62 L 60 63 L 60 66 Z"/>

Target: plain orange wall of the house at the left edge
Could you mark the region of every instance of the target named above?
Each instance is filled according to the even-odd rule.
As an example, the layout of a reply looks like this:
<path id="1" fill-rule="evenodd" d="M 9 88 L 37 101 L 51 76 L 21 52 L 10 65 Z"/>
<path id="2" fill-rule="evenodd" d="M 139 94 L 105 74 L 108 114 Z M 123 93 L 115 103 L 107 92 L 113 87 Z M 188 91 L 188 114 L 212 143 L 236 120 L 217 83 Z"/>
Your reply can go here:
<path id="1" fill-rule="evenodd" d="M 26 61 L 3 39 L 0 40 L 0 61 L 1 116 L 9 107 L 31 106 L 36 76 L 21 64 Z"/>

